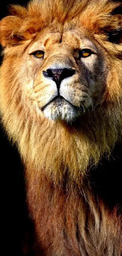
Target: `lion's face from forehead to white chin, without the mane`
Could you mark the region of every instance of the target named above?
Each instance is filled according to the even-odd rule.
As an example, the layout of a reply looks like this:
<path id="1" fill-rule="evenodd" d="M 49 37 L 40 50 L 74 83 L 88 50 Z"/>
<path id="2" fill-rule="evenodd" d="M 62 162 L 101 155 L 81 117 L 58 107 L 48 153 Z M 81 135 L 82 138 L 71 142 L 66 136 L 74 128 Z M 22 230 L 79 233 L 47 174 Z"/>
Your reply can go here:
<path id="1" fill-rule="evenodd" d="M 22 91 L 40 115 L 69 123 L 100 103 L 104 51 L 83 27 L 43 29 L 22 60 Z"/>

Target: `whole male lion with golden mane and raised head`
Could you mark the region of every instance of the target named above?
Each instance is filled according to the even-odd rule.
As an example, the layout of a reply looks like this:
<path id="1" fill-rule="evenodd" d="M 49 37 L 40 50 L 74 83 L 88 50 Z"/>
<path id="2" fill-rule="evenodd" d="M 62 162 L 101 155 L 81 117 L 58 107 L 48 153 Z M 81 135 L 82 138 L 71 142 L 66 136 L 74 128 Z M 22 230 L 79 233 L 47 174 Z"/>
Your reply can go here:
<path id="1" fill-rule="evenodd" d="M 33 0 L 9 11 L 1 118 L 25 167 L 41 255 L 121 256 L 121 208 L 92 182 L 121 148 L 121 4 Z"/>

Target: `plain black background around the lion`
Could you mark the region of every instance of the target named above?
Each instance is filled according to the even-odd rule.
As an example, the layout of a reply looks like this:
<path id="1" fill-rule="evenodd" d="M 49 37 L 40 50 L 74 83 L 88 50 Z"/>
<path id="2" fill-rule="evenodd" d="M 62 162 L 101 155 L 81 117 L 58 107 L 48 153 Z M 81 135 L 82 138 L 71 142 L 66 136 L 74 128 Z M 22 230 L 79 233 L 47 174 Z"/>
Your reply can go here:
<path id="1" fill-rule="evenodd" d="M 3 1 L 0 19 L 7 15 L 8 5 L 11 3 L 25 5 L 27 1 Z M 38 254 L 34 226 L 25 203 L 23 166 L 17 149 L 8 142 L 2 126 L 0 127 L 0 152 L 2 255 L 41 255 Z M 92 173 L 98 194 L 111 206 L 121 203 L 121 149 L 119 146 L 111 162 L 106 164 L 104 161 L 98 169 L 97 175 L 95 170 Z"/>

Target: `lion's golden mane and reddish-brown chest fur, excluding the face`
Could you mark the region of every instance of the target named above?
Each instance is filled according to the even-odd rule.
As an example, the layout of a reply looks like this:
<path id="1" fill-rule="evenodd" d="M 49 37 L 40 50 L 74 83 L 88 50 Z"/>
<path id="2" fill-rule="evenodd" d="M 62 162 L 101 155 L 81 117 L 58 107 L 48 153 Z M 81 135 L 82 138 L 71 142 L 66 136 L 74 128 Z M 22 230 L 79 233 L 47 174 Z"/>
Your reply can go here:
<path id="1" fill-rule="evenodd" d="M 112 209 L 104 205 L 89 181 L 91 168 L 97 168 L 101 158 L 110 157 L 115 144 L 121 143 L 122 16 L 114 15 L 118 7 L 119 3 L 108 0 L 35 0 L 27 8 L 12 6 L 11 16 L 0 22 L 5 54 L 1 116 L 25 164 L 28 206 L 46 256 L 122 254 L 121 214 L 116 205 Z M 62 27 L 71 30 L 79 26 L 102 52 L 106 69 L 103 87 L 95 91 L 95 108 L 72 124 L 51 121 L 36 108 L 35 90 L 43 91 L 43 82 L 31 94 L 26 83 L 30 77 L 25 67 L 26 49 L 45 28 L 55 27 L 62 34 Z M 53 48 L 51 51 L 55 53 Z M 34 85 L 37 81 L 38 76 Z"/>

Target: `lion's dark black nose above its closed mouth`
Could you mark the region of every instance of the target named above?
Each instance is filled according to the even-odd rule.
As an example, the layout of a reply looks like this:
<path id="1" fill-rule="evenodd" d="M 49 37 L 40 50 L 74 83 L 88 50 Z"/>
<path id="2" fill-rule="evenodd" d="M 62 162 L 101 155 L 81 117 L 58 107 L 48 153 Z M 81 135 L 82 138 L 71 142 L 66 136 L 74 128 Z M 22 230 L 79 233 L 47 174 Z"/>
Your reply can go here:
<path id="1" fill-rule="evenodd" d="M 49 68 L 47 71 L 43 71 L 43 75 L 47 78 L 51 78 L 56 83 L 58 88 L 60 87 L 61 81 L 64 78 L 71 77 L 74 75 L 74 73 L 75 70 L 72 68 Z"/>

